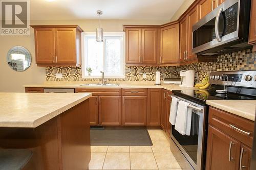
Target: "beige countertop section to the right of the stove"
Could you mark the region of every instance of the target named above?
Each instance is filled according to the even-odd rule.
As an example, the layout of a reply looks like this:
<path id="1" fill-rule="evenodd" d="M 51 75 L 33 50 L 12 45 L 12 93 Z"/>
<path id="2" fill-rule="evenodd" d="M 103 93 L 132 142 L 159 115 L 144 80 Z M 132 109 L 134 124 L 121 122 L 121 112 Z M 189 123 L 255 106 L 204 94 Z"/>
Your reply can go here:
<path id="1" fill-rule="evenodd" d="M 255 120 L 256 100 L 255 101 L 206 101 L 209 106 L 227 111 L 232 114 Z"/>

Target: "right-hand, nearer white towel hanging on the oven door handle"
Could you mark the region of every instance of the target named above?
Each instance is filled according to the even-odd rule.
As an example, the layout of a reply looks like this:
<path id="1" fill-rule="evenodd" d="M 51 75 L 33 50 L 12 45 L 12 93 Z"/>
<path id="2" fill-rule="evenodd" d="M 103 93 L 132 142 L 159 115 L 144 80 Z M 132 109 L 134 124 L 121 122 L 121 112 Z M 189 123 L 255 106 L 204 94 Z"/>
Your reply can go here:
<path id="1" fill-rule="evenodd" d="M 180 134 L 185 135 L 187 127 L 187 106 L 189 103 L 180 101 L 177 109 L 176 121 L 175 121 L 175 130 Z M 191 124 L 191 120 L 190 120 Z M 189 130 L 190 131 L 190 130 Z"/>

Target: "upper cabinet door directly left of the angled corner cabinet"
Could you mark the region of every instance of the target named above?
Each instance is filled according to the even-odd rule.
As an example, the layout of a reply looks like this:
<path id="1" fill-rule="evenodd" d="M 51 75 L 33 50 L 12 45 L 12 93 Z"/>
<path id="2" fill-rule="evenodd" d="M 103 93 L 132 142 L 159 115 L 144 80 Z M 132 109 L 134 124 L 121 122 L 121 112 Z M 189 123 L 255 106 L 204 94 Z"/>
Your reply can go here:
<path id="1" fill-rule="evenodd" d="M 157 64 L 157 29 L 141 29 L 142 64 Z"/>

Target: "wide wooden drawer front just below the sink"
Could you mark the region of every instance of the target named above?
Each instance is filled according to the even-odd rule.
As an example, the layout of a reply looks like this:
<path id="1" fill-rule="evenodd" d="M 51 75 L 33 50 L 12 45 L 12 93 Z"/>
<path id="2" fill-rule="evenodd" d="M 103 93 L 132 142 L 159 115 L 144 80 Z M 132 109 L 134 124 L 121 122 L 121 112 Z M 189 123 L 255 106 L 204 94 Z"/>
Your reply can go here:
<path id="1" fill-rule="evenodd" d="M 97 95 L 112 95 L 119 96 L 122 94 L 121 88 L 76 88 L 76 93 L 92 93 L 93 96 Z"/>

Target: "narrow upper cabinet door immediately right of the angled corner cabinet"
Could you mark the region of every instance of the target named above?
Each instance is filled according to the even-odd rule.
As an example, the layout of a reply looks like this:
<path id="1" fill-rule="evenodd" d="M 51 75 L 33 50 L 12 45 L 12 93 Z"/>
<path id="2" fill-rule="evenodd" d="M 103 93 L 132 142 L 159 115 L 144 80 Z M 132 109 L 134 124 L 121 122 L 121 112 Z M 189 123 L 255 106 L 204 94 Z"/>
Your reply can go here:
<path id="1" fill-rule="evenodd" d="M 187 51 L 187 18 L 180 21 L 180 62 L 185 60 Z"/>

